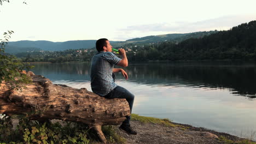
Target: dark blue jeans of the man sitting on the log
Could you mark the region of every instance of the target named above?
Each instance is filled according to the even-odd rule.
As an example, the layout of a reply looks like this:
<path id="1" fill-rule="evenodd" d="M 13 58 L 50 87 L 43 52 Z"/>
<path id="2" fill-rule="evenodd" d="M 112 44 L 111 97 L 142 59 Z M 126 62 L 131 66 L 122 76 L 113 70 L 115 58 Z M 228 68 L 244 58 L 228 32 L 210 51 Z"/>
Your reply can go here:
<path id="1" fill-rule="evenodd" d="M 134 95 L 131 94 L 129 91 L 127 91 L 125 88 L 117 86 L 112 91 L 110 91 L 107 95 L 105 95 L 104 97 L 108 98 L 108 99 L 125 98 L 129 103 L 130 111 L 132 111 Z M 130 126 L 130 119 L 131 119 L 131 116 L 126 116 L 126 119 L 123 122 L 123 125 Z"/>

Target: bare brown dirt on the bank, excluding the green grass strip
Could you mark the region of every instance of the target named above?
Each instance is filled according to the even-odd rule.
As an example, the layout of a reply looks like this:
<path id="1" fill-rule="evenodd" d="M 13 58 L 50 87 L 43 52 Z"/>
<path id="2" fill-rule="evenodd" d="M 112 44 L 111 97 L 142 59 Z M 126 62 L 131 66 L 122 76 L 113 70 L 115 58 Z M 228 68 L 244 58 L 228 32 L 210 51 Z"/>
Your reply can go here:
<path id="1" fill-rule="evenodd" d="M 166 127 L 160 124 L 142 123 L 138 121 L 131 122 L 132 128 L 137 131 L 137 135 L 128 135 L 115 127 L 117 133 L 125 137 L 127 143 L 172 143 L 172 144 L 215 144 L 222 143 L 217 136 L 225 136 L 232 141 L 242 140 L 240 137 L 232 136 L 226 133 L 219 133 L 205 128 L 196 128 L 191 125 L 182 127 Z"/>

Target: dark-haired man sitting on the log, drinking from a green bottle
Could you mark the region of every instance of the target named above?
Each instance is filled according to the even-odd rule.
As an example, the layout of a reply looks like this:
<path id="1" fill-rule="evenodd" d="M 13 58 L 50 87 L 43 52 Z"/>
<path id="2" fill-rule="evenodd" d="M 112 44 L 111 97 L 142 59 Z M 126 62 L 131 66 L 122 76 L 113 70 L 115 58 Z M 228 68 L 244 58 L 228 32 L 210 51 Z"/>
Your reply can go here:
<path id="1" fill-rule="evenodd" d="M 128 66 L 128 59 L 124 49 L 118 49 L 119 55 L 122 59 L 115 56 L 112 53 L 112 46 L 108 39 L 98 39 L 96 41 L 96 49 L 98 53 L 92 57 L 91 61 L 91 89 L 94 93 L 101 97 L 113 99 L 113 98 L 125 98 L 132 111 L 132 105 L 134 101 L 134 95 L 127 91 L 125 88 L 120 87 L 114 82 L 114 74 L 121 72 L 125 79 L 128 79 L 128 75 L 123 69 L 114 68 L 114 65 L 121 67 Z M 136 131 L 130 127 L 131 116 L 126 116 L 125 121 L 120 125 L 119 129 L 128 133 L 136 135 Z"/>

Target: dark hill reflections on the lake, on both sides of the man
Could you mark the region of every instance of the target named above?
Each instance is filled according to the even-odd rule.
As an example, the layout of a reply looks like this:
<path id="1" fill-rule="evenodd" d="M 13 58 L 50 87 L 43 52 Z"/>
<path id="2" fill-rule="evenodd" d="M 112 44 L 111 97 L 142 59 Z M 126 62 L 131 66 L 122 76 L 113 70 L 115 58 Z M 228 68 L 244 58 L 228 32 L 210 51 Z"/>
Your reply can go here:
<path id="1" fill-rule="evenodd" d="M 168 63 L 130 64 L 129 82 L 166 87 L 229 89 L 234 95 L 256 98 L 256 67 L 253 64 Z M 34 73 L 51 80 L 90 81 L 90 64 L 36 64 Z M 117 79 L 123 79 L 117 74 Z"/>

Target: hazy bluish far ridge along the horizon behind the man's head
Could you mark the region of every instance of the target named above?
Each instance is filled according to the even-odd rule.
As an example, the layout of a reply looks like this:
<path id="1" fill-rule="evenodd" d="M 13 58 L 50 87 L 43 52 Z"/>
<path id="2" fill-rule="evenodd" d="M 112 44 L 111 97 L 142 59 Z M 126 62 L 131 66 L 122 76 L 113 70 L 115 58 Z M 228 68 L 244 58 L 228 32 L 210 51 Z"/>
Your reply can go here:
<path id="1" fill-rule="evenodd" d="M 126 44 L 148 44 L 158 43 L 161 41 L 182 41 L 189 38 L 201 38 L 205 35 L 210 35 L 218 31 L 210 32 L 195 32 L 195 33 L 183 33 L 183 34 L 163 34 L 163 35 L 151 35 L 142 38 L 129 39 L 126 41 L 110 41 L 113 47 L 122 46 Z M 21 40 L 21 41 L 10 41 L 5 48 L 8 53 L 19 53 L 27 51 L 64 51 L 68 49 L 90 49 L 95 47 L 96 40 L 72 40 L 64 42 L 53 42 L 46 40 Z"/>

